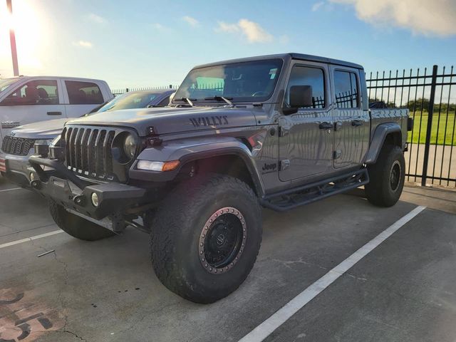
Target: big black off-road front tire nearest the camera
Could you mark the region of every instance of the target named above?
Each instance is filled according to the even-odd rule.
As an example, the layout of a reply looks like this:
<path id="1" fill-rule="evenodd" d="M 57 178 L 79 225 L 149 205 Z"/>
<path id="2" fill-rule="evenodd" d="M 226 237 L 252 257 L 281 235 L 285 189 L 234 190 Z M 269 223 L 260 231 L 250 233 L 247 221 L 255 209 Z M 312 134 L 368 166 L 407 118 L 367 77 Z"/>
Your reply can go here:
<path id="1" fill-rule="evenodd" d="M 239 210 L 247 234 L 234 265 L 229 261 L 215 274 L 215 268 L 202 262 L 202 254 L 206 254 L 200 244 L 205 232 L 202 229 L 209 225 L 212 232 L 215 228 L 207 224 L 209 219 L 222 208 L 229 212 L 227 208 L 231 207 Z M 222 215 L 225 219 L 229 216 Z M 150 233 L 153 269 L 175 294 L 195 303 L 213 303 L 231 294 L 247 278 L 257 259 L 261 235 L 259 201 L 246 183 L 226 175 L 197 176 L 178 185 L 157 209 Z"/>

